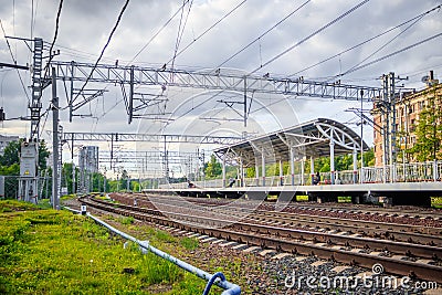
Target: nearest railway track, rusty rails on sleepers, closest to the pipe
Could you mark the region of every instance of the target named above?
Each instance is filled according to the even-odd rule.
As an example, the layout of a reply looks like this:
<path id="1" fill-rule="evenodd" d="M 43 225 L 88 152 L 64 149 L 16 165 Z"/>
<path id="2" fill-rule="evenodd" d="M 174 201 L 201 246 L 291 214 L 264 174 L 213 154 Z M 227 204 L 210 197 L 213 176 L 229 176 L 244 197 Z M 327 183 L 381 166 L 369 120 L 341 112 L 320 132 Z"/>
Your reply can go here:
<path id="1" fill-rule="evenodd" d="M 288 253 L 316 255 L 322 259 L 364 267 L 371 267 L 376 263 L 381 263 L 388 273 L 442 282 L 442 266 L 424 263 L 422 260 L 439 260 L 442 257 L 442 249 L 440 246 L 272 226 L 251 223 L 249 222 L 250 220 L 232 223 L 231 220 L 213 219 L 201 214 L 194 215 L 190 214 L 190 212 L 161 212 L 157 209 L 116 204 L 103 200 L 82 199 L 81 201 L 90 207 L 108 212 L 131 215 L 156 224 L 228 241 Z M 392 255 L 379 255 L 378 251 Z M 414 259 L 410 260 L 410 257 Z"/>

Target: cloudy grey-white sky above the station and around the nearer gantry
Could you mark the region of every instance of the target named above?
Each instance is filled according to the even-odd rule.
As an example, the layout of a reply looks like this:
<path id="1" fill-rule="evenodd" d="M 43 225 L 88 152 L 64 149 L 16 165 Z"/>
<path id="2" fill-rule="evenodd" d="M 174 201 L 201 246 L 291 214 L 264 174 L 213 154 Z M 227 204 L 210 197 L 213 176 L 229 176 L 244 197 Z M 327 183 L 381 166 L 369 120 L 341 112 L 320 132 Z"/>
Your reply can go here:
<path id="1" fill-rule="evenodd" d="M 0 0 L 4 34 L 42 38 L 50 45 L 59 3 Z M 123 0 L 64 1 L 54 44 L 61 54 L 55 60 L 95 63 L 124 3 Z M 430 70 L 441 78 L 442 38 L 402 50 L 442 32 L 441 11 L 432 10 L 440 4 L 436 0 L 130 0 L 102 63 L 115 64 L 118 60 L 124 65 L 156 67 L 167 63 L 168 67 L 192 71 L 221 67 L 235 74 L 270 73 L 367 86 L 380 86 L 379 77 L 394 72 L 409 76 L 403 82 L 407 87 L 421 89 L 424 87 L 421 77 Z M 27 44 L 9 39 L 8 45 L 4 34 L 0 31 L 0 62 L 31 64 Z M 173 59 L 176 52 L 179 54 Z M 389 54 L 392 55 L 383 59 Z M 354 71 L 357 66 L 360 69 Z M 9 118 L 29 115 L 31 74 L 20 71 L 20 75 L 24 87 L 18 71 L 0 69 L 0 103 Z M 263 133 L 316 117 L 354 122 L 355 115 L 346 109 L 360 106 L 352 102 L 256 94 L 250 124 L 244 128 L 235 113 L 242 105 L 233 104 L 230 108 L 224 103 L 240 102 L 242 94 L 139 87 L 140 93 L 162 94 L 158 97 L 165 101 L 145 110 L 160 115 L 146 115 L 128 125 L 118 85 L 90 83 L 87 87 L 105 88 L 106 93 L 78 109 L 76 115 L 82 116 L 74 117 L 73 123 L 62 112 L 61 123 L 67 131 Z M 65 86 L 59 82 L 57 88 L 64 107 Z M 49 107 L 50 95 L 48 88 L 42 112 Z M 9 120 L 0 126 L 0 133 L 29 136 L 29 122 Z M 43 117 L 42 136 L 46 137 L 51 128 L 51 116 Z M 369 127 L 366 133 L 370 143 Z"/>

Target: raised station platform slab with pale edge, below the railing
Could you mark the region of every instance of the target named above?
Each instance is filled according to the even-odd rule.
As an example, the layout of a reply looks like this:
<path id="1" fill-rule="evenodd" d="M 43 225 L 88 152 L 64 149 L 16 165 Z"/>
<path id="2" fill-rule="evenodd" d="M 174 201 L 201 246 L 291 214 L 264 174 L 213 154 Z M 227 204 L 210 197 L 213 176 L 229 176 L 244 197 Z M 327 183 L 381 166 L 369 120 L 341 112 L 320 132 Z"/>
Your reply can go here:
<path id="1" fill-rule="evenodd" d="M 162 188 L 146 189 L 145 193 L 179 194 L 197 198 L 245 198 L 265 200 L 270 196 L 278 201 L 296 201 L 295 196 L 308 196 L 308 200 L 318 202 L 337 201 L 338 197 L 351 197 L 355 203 L 373 202 L 382 197 L 386 203 L 431 206 L 431 197 L 442 196 L 441 181 L 357 183 L 357 185 L 317 185 L 280 187 L 233 187 L 233 188 Z"/>

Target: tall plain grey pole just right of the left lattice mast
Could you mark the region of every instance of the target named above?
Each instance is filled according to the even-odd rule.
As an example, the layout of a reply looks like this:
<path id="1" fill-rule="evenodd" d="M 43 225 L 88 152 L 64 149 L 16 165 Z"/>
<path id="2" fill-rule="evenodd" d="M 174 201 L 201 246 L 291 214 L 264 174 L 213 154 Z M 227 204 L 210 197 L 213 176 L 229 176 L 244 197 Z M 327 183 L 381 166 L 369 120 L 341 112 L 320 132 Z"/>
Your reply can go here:
<path id="1" fill-rule="evenodd" d="M 56 97 L 55 67 L 52 67 L 52 207 L 59 210 L 59 97 Z"/>

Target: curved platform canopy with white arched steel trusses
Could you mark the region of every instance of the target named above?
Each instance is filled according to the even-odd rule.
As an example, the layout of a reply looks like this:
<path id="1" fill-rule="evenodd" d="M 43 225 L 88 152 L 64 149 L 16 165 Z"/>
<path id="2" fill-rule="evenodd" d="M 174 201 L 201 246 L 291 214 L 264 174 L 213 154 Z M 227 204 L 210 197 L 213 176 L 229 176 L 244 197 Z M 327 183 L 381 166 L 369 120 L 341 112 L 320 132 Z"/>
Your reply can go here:
<path id="1" fill-rule="evenodd" d="M 225 162 L 253 167 L 263 157 L 266 164 L 271 164 L 301 160 L 305 157 L 354 154 L 360 151 L 360 136 L 346 125 L 333 119 L 317 118 L 218 148 L 214 154 Z M 364 150 L 369 149 L 365 141 L 362 147 Z"/>

